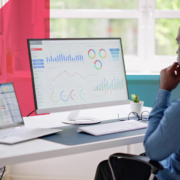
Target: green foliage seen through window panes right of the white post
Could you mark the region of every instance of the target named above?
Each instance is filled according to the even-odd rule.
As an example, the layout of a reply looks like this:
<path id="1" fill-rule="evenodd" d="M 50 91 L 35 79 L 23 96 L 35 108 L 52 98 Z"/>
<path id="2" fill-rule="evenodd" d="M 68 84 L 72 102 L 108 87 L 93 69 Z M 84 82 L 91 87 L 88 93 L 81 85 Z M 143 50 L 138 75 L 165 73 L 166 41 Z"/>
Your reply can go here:
<path id="1" fill-rule="evenodd" d="M 180 0 L 156 0 L 160 10 L 180 10 Z M 156 54 L 175 55 L 178 48 L 176 36 L 180 19 L 157 19 L 155 25 Z"/>

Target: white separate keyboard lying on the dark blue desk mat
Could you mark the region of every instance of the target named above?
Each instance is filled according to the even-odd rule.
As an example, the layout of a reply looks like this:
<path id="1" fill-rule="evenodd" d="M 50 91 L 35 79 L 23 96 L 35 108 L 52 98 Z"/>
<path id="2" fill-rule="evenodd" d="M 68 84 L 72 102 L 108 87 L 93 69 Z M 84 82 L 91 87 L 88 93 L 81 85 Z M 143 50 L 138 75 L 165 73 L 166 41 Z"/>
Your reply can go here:
<path id="1" fill-rule="evenodd" d="M 127 120 L 121 122 L 113 122 L 107 124 L 99 124 L 93 126 L 79 127 L 78 132 L 86 132 L 94 136 L 100 136 L 105 134 L 112 134 L 124 131 L 131 131 L 136 129 L 147 128 L 148 124 L 139 122 L 137 120 Z"/>

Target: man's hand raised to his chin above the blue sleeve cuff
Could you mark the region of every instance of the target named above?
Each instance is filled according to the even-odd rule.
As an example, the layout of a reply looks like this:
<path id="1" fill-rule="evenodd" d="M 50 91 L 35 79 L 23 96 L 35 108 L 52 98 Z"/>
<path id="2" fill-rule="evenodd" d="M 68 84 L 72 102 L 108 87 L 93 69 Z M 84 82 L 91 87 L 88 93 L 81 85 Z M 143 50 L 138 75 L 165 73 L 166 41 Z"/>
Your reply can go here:
<path id="1" fill-rule="evenodd" d="M 177 62 L 163 69 L 160 74 L 160 89 L 172 91 L 180 82 L 180 67 Z"/>

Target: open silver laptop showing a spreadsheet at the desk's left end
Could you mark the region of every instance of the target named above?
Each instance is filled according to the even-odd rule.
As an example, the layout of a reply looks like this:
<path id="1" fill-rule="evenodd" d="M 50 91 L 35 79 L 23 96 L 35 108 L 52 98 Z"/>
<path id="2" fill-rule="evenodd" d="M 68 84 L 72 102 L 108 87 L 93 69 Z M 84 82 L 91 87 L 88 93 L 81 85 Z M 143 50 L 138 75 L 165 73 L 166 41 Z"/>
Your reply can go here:
<path id="1" fill-rule="evenodd" d="M 0 143 L 15 144 L 60 131 L 25 127 L 13 83 L 0 84 Z"/>

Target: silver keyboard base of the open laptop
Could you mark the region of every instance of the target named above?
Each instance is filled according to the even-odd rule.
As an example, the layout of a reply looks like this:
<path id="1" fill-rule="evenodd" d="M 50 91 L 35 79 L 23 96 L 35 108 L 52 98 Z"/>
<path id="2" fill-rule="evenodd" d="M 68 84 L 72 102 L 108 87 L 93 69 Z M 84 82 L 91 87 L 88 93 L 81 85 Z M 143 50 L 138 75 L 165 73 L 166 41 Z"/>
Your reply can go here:
<path id="1" fill-rule="evenodd" d="M 0 131 L 0 143 L 14 144 L 38 137 L 54 134 L 62 131 L 61 129 L 44 129 L 44 128 L 26 128 L 17 127 Z"/>

